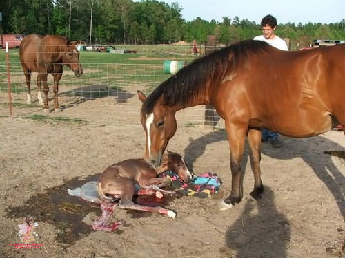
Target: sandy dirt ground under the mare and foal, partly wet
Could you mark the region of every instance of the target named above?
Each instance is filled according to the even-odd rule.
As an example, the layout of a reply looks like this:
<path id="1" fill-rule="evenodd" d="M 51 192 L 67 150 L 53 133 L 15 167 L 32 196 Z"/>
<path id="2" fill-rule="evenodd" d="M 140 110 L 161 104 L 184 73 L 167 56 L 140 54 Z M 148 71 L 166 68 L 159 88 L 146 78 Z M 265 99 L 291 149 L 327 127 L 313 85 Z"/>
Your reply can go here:
<path id="1" fill-rule="evenodd" d="M 87 103 L 61 114 L 77 114 Z M 124 106 L 116 108 L 121 114 Z M 95 106 L 92 111 L 97 114 Z M 207 199 L 167 197 L 164 206 L 177 212 L 175 219 L 116 209 L 112 221 L 124 219 L 126 226 L 115 233 L 95 232 L 90 223 L 100 215 L 99 206 L 68 195 L 67 189 L 97 179 L 110 164 L 143 155 L 145 138 L 139 118 L 122 122 L 125 119 L 85 124 L 0 118 L 0 257 L 342 255 L 345 162 L 338 155 L 345 137 L 339 131 L 306 139 L 282 137 L 281 149 L 264 143 L 265 193 L 259 202 L 249 195 L 253 175 L 246 151 L 244 199 L 230 210 L 219 211 L 230 193 L 226 134 L 221 129 L 179 124 L 168 149 L 181 153 L 195 174 L 217 173 L 223 180 L 219 193 Z M 38 223 L 36 243 L 41 245 L 15 248 L 20 243 L 18 225 L 29 215 Z"/>

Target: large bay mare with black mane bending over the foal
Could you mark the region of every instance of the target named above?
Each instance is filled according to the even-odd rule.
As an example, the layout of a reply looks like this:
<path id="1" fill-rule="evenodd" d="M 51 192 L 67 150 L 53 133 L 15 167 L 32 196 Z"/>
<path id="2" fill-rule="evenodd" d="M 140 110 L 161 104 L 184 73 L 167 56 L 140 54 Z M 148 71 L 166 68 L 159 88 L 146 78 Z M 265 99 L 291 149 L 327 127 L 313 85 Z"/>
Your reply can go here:
<path id="1" fill-rule="evenodd" d="M 248 138 L 254 189 L 261 198 L 261 128 L 304 138 L 345 125 L 345 45 L 308 51 L 277 50 L 262 41 L 224 47 L 179 70 L 147 98 L 138 91 L 146 158 L 153 166 L 177 129 L 175 113 L 195 105 L 213 105 L 225 120 L 232 183 L 222 202 L 242 200 L 242 157 Z M 344 131 L 344 129 L 343 129 Z M 345 132 L 345 131 L 344 131 Z"/>

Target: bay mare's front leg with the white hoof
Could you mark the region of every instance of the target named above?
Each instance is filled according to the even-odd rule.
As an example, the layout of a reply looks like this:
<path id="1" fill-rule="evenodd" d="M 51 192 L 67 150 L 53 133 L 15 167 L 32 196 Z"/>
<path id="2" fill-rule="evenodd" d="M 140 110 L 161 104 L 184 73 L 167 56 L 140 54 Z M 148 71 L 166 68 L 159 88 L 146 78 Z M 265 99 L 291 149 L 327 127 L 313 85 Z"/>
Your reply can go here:
<path id="1" fill-rule="evenodd" d="M 242 186 L 242 158 L 244 154 L 244 142 L 248 125 L 246 123 L 233 124 L 226 122 L 226 133 L 230 145 L 230 169 L 231 169 L 231 193 L 222 202 L 222 208 L 231 208 L 239 203 L 243 196 Z"/>

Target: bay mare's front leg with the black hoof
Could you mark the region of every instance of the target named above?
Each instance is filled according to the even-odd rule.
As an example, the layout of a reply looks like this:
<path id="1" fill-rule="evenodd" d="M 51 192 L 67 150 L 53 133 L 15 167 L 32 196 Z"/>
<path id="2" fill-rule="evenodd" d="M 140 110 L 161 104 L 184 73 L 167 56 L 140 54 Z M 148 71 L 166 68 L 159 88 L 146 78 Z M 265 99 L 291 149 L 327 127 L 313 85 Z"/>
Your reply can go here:
<path id="1" fill-rule="evenodd" d="M 261 130 L 249 129 L 248 131 L 248 144 L 249 144 L 249 157 L 250 166 L 254 174 L 254 189 L 250 195 L 255 199 L 261 199 L 262 193 L 264 193 L 264 186 L 262 185 L 260 160 L 261 160 Z"/>

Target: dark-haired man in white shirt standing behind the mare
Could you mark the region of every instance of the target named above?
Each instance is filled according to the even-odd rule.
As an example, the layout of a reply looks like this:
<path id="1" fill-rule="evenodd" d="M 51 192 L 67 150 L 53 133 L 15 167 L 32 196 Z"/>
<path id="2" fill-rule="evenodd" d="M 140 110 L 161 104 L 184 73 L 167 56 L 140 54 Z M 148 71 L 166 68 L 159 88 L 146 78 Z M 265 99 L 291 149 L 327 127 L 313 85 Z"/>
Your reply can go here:
<path id="1" fill-rule="evenodd" d="M 279 36 L 275 34 L 275 29 L 277 28 L 277 19 L 275 19 L 275 17 L 268 14 L 262 18 L 261 28 L 262 35 L 255 36 L 254 40 L 265 41 L 279 50 L 288 50 L 288 45 L 286 45 L 284 39 L 279 38 Z M 270 142 L 275 148 L 282 147 L 282 142 L 279 140 L 279 134 L 274 131 L 269 131 L 266 128 L 262 129 L 262 141 Z"/>

